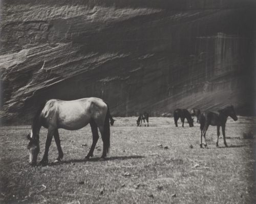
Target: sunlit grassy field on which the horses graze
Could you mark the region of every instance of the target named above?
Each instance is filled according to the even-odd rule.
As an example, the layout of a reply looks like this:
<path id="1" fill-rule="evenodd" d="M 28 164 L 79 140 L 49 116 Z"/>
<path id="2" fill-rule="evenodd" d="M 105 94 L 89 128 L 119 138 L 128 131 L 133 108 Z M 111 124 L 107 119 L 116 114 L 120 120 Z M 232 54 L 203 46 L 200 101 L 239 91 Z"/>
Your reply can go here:
<path id="1" fill-rule="evenodd" d="M 106 161 L 98 160 L 101 139 L 94 158 L 83 161 L 92 143 L 87 126 L 59 130 L 63 161 L 52 163 L 53 139 L 45 167 L 28 165 L 30 126 L 1 127 L 0 203 L 255 203 L 254 141 L 244 139 L 255 129 L 254 118 L 228 119 L 228 148 L 222 137 L 215 146 L 217 131 L 210 126 L 208 149 L 200 149 L 199 124 L 175 127 L 173 118 L 155 117 L 150 127 L 137 127 L 135 117 L 115 119 Z M 46 133 L 42 128 L 38 162 Z"/>

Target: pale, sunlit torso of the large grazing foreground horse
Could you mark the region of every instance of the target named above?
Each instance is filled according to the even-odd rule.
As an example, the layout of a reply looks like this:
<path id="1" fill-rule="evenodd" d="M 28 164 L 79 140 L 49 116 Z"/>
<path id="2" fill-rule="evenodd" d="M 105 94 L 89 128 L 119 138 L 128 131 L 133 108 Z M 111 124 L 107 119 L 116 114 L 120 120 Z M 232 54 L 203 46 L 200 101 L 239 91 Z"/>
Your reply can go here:
<path id="1" fill-rule="evenodd" d="M 104 123 L 108 106 L 100 98 L 81 98 L 77 100 L 51 99 L 42 110 L 47 123 L 58 128 L 78 130 L 91 119 Z"/>

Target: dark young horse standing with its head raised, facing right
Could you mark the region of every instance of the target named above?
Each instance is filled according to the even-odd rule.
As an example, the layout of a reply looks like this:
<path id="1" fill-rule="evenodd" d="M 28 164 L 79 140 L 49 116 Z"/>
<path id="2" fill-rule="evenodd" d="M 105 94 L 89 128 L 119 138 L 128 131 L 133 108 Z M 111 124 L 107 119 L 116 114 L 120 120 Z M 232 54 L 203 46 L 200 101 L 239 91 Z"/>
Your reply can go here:
<path id="1" fill-rule="evenodd" d="M 221 127 L 224 144 L 227 147 L 225 127 L 226 127 L 228 116 L 230 116 L 234 121 L 238 120 L 238 117 L 236 115 L 236 112 L 234 111 L 233 106 L 228 106 L 217 112 L 205 111 L 200 115 L 199 121 L 200 121 L 200 129 L 201 129 L 201 143 L 200 143 L 201 148 L 203 148 L 203 144 L 202 144 L 203 136 L 204 136 L 204 146 L 207 147 L 205 134 L 209 125 L 217 126 L 217 136 L 218 136 L 217 142 L 216 142 L 217 147 L 219 146 L 219 136 L 220 136 L 220 127 Z"/>

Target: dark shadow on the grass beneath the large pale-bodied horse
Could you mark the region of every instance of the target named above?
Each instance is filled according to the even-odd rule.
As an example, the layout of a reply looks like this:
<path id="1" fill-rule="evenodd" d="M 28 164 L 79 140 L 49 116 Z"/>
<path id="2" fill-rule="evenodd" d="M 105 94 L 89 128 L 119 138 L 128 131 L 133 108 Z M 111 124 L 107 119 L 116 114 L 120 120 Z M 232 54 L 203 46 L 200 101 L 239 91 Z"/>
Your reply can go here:
<path id="1" fill-rule="evenodd" d="M 139 156 L 139 155 L 134 155 L 134 156 L 116 156 L 116 157 L 108 157 L 108 158 L 105 158 L 103 160 L 104 161 L 113 161 L 113 160 L 127 160 L 127 159 L 141 159 L 141 158 L 144 158 L 144 156 Z M 85 160 L 85 159 L 71 159 L 71 160 L 64 160 L 64 161 L 61 161 L 61 162 L 57 162 L 57 163 L 49 163 L 48 166 L 56 166 L 56 165 L 61 165 L 61 164 L 71 164 L 73 163 L 75 165 L 75 163 L 87 163 L 87 162 L 99 162 L 101 161 L 100 160 L 101 158 L 100 157 L 95 157 L 95 158 L 91 158 L 90 160 Z"/>

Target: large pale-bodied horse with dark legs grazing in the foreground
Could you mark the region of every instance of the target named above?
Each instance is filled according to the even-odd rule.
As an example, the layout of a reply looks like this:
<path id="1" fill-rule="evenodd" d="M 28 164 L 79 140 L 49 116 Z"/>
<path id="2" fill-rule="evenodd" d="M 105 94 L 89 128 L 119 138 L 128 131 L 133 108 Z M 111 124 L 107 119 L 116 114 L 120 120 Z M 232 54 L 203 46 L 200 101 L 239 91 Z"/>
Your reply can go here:
<path id="1" fill-rule="evenodd" d="M 28 144 L 29 163 L 31 165 L 36 164 L 39 153 L 39 132 L 41 126 L 48 129 L 45 154 L 40 161 L 40 164 L 44 165 L 48 163 L 48 151 L 53 136 L 58 149 L 58 158 L 55 162 L 61 161 L 63 158 L 58 133 L 59 128 L 74 131 L 81 129 L 88 123 L 91 125 L 93 143 L 86 159 L 90 159 L 93 156 L 93 151 L 99 138 L 98 128 L 103 141 L 101 158 L 104 159 L 110 148 L 109 120 L 110 109 L 100 98 L 91 97 L 70 101 L 51 99 L 47 101 L 37 111 L 33 119 L 31 133 L 28 135 L 28 139 L 30 140 Z"/>

